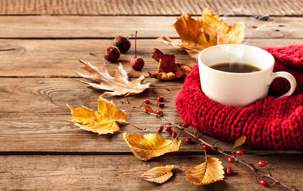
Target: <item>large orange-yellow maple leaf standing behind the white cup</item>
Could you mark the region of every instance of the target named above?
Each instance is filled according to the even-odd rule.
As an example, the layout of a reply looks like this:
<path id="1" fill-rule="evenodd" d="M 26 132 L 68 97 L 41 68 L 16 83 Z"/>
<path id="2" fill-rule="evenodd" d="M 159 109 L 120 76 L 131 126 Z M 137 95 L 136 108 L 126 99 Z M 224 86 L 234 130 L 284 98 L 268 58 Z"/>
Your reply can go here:
<path id="1" fill-rule="evenodd" d="M 172 26 L 179 34 L 181 44 L 168 37 L 159 37 L 156 40 L 179 50 L 184 49 L 195 59 L 198 59 L 198 54 L 205 48 L 219 44 L 241 44 L 245 36 L 245 23 L 237 22 L 229 26 L 219 20 L 218 15 L 211 15 L 209 8 L 204 9 L 198 21 L 188 13 L 177 18 Z"/>

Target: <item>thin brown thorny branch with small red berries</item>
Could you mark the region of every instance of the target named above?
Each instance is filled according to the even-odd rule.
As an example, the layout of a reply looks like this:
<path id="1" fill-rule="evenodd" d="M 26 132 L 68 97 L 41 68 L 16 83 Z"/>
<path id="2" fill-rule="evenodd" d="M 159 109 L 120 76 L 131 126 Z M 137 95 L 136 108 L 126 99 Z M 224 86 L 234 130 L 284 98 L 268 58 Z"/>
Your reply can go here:
<path id="1" fill-rule="evenodd" d="M 160 96 L 160 97 L 158 98 L 158 100 L 159 100 L 160 102 L 163 101 L 163 97 Z M 129 105 L 132 105 L 128 100 L 127 100 L 127 102 L 124 102 L 124 101 L 120 101 L 120 102 L 122 102 L 122 104 L 129 104 Z M 148 100 L 148 99 L 145 99 L 145 100 L 144 100 L 144 103 L 149 104 L 149 100 Z M 159 103 L 158 106 L 162 108 L 162 107 L 164 106 L 164 103 Z M 150 108 L 151 110 L 149 110 L 149 109 L 147 109 L 147 108 L 143 108 L 142 105 L 141 105 L 141 106 L 132 105 L 132 107 L 133 107 L 133 109 L 134 109 L 134 108 L 140 108 L 140 109 L 144 110 L 144 112 L 145 112 L 146 114 L 148 114 L 148 115 L 154 115 L 154 116 L 157 117 L 157 118 L 161 118 L 161 119 L 166 120 L 168 123 L 166 123 L 166 124 L 160 126 L 160 127 L 158 128 L 158 132 L 163 131 L 163 129 L 164 129 L 164 127 L 165 127 L 165 130 L 166 130 L 168 133 L 172 134 L 172 137 L 173 137 L 173 138 L 176 138 L 176 136 L 177 136 L 176 132 L 175 132 L 175 131 L 172 131 L 172 129 L 171 129 L 172 126 L 173 126 L 174 128 L 177 128 L 177 129 L 179 129 L 179 130 L 181 130 L 181 131 L 184 131 L 184 132 L 186 132 L 188 135 L 190 135 L 191 137 L 196 138 L 197 140 L 199 140 L 199 141 L 201 142 L 200 145 L 203 145 L 203 148 L 204 148 L 205 152 L 206 152 L 206 151 L 210 151 L 211 149 L 213 149 L 213 150 L 217 151 L 219 154 L 227 156 L 227 157 L 228 157 L 228 162 L 230 162 L 230 163 L 239 162 L 239 163 L 243 164 L 244 166 L 246 166 L 247 168 L 249 168 L 249 169 L 255 171 L 256 173 L 261 174 L 261 176 L 258 178 L 258 180 L 260 181 L 260 184 L 261 184 L 261 185 L 264 185 L 264 186 L 267 185 L 267 181 L 266 181 L 266 180 L 263 180 L 263 178 L 267 177 L 267 178 L 269 178 L 269 179 L 271 179 L 271 180 L 274 181 L 274 183 L 271 184 L 270 186 L 274 186 L 275 184 L 280 184 L 281 186 L 284 186 L 285 188 L 287 188 L 287 189 L 289 189 L 289 190 L 291 190 L 291 191 L 298 191 L 294 186 L 287 186 L 285 183 L 281 182 L 280 180 L 278 180 L 277 178 L 275 178 L 274 176 L 272 176 L 272 175 L 271 175 L 271 170 L 272 170 L 272 168 L 271 168 L 271 170 L 268 170 L 268 173 L 265 173 L 265 172 L 263 172 L 263 171 L 257 169 L 257 168 L 255 167 L 254 164 L 246 163 L 246 162 L 244 162 L 243 160 L 238 159 L 238 158 L 236 157 L 236 155 L 243 155 L 243 154 L 244 154 L 243 151 L 234 151 L 234 148 L 236 147 L 236 143 L 237 143 L 238 140 L 241 141 L 241 142 L 244 140 L 243 143 L 245 142 L 245 139 L 246 139 L 245 136 L 239 138 L 239 139 L 236 141 L 235 146 L 234 146 L 234 148 L 233 148 L 232 151 L 231 151 L 231 154 L 227 154 L 227 153 L 225 153 L 224 151 L 221 151 L 221 150 L 217 147 L 217 145 L 215 145 L 215 144 L 209 144 L 209 143 L 205 142 L 204 140 L 202 140 L 202 139 L 198 136 L 197 133 L 192 134 L 191 132 L 189 132 L 189 131 L 186 129 L 186 128 L 188 128 L 188 127 L 190 126 L 188 123 L 175 124 L 175 123 L 171 122 L 170 120 L 168 120 L 167 118 L 165 118 L 165 117 L 163 116 L 163 113 L 162 113 L 161 110 L 158 110 L 157 112 L 154 112 L 154 111 L 151 109 L 150 106 L 148 106 L 148 108 Z M 166 126 L 166 125 L 167 125 L 167 126 Z M 191 138 L 186 138 L 185 142 L 190 143 L 190 142 L 191 142 Z M 242 143 L 242 144 L 243 144 L 243 143 Z M 264 161 L 258 162 L 258 166 L 259 166 L 259 167 L 265 167 L 265 162 L 264 162 Z M 228 174 L 231 173 L 231 167 L 228 167 L 228 168 L 227 168 L 226 173 L 228 173 Z"/>

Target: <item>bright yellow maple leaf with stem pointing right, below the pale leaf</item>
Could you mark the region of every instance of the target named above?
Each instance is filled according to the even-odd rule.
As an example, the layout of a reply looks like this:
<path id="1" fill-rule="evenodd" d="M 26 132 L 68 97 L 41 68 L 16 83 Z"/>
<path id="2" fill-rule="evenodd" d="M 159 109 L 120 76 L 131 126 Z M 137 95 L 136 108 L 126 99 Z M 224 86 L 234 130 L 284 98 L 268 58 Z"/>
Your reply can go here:
<path id="1" fill-rule="evenodd" d="M 68 121 L 86 131 L 92 131 L 99 134 L 113 134 L 116 131 L 120 132 L 117 122 L 129 124 L 125 121 L 127 118 L 125 110 L 117 109 L 112 101 L 109 102 L 102 97 L 99 97 L 98 99 L 97 112 L 84 106 L 82 106 L 82 108 L 73 108 L 70 105 L 67 106 L 72 112 L 73 119 L 72 121 L 62 121 Z"/>

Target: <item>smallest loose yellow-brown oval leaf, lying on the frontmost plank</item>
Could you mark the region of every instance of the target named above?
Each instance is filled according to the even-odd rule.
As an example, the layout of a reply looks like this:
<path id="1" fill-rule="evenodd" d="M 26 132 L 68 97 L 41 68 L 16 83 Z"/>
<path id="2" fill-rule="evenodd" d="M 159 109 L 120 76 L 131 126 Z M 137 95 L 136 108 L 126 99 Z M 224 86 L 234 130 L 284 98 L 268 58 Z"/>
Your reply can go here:
<path id="1" fill-rule="evenodd" d="M 166 165 L 165 167 L 152 168 L 141 175 L 146 181 L 158 184 L 165 183 L 172 176 L 172 170 L 177 168 L 175 165 Z"/>

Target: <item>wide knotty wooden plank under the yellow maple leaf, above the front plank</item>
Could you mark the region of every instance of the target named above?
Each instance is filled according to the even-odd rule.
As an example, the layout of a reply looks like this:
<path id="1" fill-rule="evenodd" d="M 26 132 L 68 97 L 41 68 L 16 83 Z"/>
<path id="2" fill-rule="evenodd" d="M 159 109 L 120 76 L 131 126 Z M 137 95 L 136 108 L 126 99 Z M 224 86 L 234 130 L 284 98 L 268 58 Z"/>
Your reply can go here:
<path id="1" fill-rule="evenodd" d="M 97 110 L 98 96 L 100 90 L 86 88 L 86 85 L 69 78 L 0 78 L 0 100 L 2 120 L 0 154 L 129 154 L 131 151 L 122 139 L 121 134 L 97 134 L 79 129 L 78 127 L 61 121 L 72 119 L 70 110 L 65 104 L 76 107 L 84 105 L 90 109 Z M 182 123 L 175 106 L 175 97 L 182 87 L 183 81 L 159 81 L 146 79 L 155 87 L 170 88 L 171 92 L 164 89 L 147 89 L 144 92 L 129 96 L 128 100 L 134 105 L 141 105 L 143 99 L 148 98 L 151 107 L 158 110 L 158 96 L 164 96 L 165 107 L 162 109 L 164 115 L 176 123 Z M 128 114 L 132 107 L 123 106 L 121 96 L 105 96 L 113 100 L 118 109 L 125 109 Z M 142 110 L 135 109 L 128 116 L 128 122 L 140 128 L 140 131 L 130 125 L 120 125 L 121 131 L 131 130 L 130 133 L 157 133 L 157 129 L 165 121 L 153 116 L 143 114 Z M 161 133 L 166 139 L 172 139 L 171 134 L 163 131 Z M 187 144 L 184 142 L 187 134 L 182 133 L 183 139 L 180 150 L 182 153 L 201 153 L 199 142 Z M 232 143 L 226 143 L 206 135 L 201 137 L 209 143 L 216 143 L 224 151 L 230 151 Z M 300 153 L 299 151 L 261 151 L 260 149 L 243 146 L 245 153 L 251 154 L 273 154 L 273 153 Z"/>

